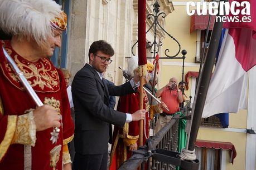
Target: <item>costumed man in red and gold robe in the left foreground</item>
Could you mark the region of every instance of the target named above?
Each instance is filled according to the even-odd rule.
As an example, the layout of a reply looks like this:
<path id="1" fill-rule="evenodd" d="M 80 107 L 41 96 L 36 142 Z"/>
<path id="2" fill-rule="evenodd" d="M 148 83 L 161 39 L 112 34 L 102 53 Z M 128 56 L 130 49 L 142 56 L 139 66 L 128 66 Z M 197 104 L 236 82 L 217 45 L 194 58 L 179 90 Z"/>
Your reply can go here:
<path id="1" fill-rule="evenodd" d="M 74 136 L 65 78 L 47 58 L 60 47 L 67 16 L 52 0 L 3 0 L 0 29 L 0 169 L 71 169 L 67 148 Z M 4 56 L 2 47 L 44 103 L 36 103 Z M 59 138 L 50 141 L 54 127 Z"/>

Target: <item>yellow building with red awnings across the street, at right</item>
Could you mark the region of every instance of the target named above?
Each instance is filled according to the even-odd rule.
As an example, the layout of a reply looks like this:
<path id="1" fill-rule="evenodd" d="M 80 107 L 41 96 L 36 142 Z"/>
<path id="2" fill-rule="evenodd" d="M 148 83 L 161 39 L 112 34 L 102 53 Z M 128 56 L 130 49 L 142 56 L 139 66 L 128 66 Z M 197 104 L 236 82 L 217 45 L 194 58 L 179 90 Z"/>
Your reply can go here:
<path id="1" fill-rule="evenodd" d="M 205 30 L 201 27 L 194 28 L 191 23 L 191 17 L 186 13 L 186 3 L 188 1 L 175 0 L 172 1 L 175 11 L 169 14 L 166 18 L 166 30 L 171 33 L 181 44 L 181 49 L 186 49 L 185 59 L 185 74 L 189 72 L 198 72 L 202 46 L 204 45 Z M 200 1 L 195 1 L 200 2 Z M 204 2 L 204 1 L 201 1 Z M 207 19 L 206 19 L 207 21 Z M 207 26 L 207 23 L 204 23 Z M 207 39 L 206 43 L 209 43 Z M 162 50 L 170 49 L 170 52 L 177 51 L 176 44 L 172 39 L 166 37 L 163 41 Z M 182 56 L 181 54 L 179 55 Z M 161 56 L 165 57 L 165 56 Z M 182 78 L 182 60 L 180 59 L 162 59 L 161 60 L 160 87 L 165 86 L 171 77 L 177 77 L 178 81 Z M 233 144 L 236 150 L 234 163 L 230 162 L 231 150 L 214 149 L 212 144 L 211 149 L 202 146 L 197 148 L 197 158 L 201 160 L 201 169 L 256 169 L 256 135 L 247 133 L 247 129 L 256 129 L 255 118 L 255 74 L 254 67 L 249 71 L 248 77 L 248 95 L 247 109 L 240 110 L 239 113 L 229 114 L 229 127 L 223 128 L 219 126 L 200 126 L 197 139 L 221 144 L 228 142 Z M 225 81 L 225 80 L 223 80 Z M 192 96 L 194 101 L 196 89 L 196 77 L 189 78 L 189 90 L 186 91 L 187 96 Z"/>

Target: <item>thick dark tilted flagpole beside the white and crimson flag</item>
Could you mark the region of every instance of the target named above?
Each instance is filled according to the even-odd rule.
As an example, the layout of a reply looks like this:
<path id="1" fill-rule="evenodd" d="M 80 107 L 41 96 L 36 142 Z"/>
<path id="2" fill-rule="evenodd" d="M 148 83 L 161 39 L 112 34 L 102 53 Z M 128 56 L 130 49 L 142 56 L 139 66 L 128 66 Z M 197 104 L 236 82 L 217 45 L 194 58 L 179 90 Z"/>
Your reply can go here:
<path id="1" fill-rule="evenodd" d="M 226 0 L 221 0 L 221 1 L 226 2 Z M 220 16 L 219 13 L 217 16 Z M 199 131 L 202 111 L 204 109 L 206 94 L 210 84 L 212 68 L 214 67 L 215 57 L 216 57 L 216 53 L 219 46 L 219 39 L 221 36 L 222 28 L 223 28 L 223 22 L 216 22 L 216 19 L 215 19 L 214 28 L 212 30 L 212 36 L 210 39 L 209 51 L 205 58 L 204 67 L 202 67 L 202 74 L 200 75 L 202 76 L 201 80 L 204 80 L 204 81 L 200 81 L 199 84 L 197 85 L 199 87 L 199 90 L 196 93 L 196 96 L 195 96 L 196 98 L 194 102 L 195 106 L 192 109 L 192 123 L 191 123 L 190 133 L 188 137 L 187 147 L 186 147 L 189 151 L 194 151 L 195 149 L 196 137 Z"/>

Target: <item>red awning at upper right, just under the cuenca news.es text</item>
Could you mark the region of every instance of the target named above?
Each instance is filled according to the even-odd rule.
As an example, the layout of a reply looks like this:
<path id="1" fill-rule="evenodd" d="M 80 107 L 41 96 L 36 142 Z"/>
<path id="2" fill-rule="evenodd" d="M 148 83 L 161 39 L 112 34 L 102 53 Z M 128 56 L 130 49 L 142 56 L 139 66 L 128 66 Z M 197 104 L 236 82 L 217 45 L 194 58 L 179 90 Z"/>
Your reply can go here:
<path id="1" fill-rule="evenodd" d="M 210 16 L 209 14 L 205 15 L 205 16 L 203 16 L 203 15 L 199 16 L 197 14 L 192 15 L 190 18 L 190 33 L 197 29 L 198 30 L 207 29 L 209 16 Z M 214 26 L 215 17 L 216 16 L 211 17 L 210 30 L 212 30 L 212 28 Z"/>

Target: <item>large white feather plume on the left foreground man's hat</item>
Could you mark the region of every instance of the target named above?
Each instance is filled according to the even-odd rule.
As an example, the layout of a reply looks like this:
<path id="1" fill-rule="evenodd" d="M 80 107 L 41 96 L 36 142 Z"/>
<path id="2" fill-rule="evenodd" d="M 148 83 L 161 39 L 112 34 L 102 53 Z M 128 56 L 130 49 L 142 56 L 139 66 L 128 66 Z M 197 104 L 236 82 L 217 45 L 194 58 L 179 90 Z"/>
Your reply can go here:
<path id="1" fill-rule="evenodd" d="M 52 0 L 0 0 L 0 28 L 40 44 L 52 35 L 50 21 L 60 13 L 61 6 Z"/>

